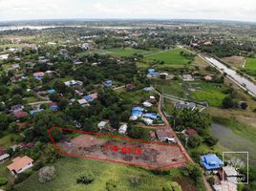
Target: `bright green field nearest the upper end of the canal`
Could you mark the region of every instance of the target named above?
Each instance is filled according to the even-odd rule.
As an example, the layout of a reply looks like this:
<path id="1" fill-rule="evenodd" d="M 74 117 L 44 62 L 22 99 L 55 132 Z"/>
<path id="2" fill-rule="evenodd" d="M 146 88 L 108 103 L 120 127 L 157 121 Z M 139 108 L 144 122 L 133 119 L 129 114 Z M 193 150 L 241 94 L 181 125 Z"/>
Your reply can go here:
<path id="1" fill-rule="evenodd" d="M 144 61 L 163 61 L 165 65 L 186 65 L 190 60 L 181 55 L 181 51 L 186 53 L 185 50 L 176 48 L 171 51 L 156 53 L 144 56 Z"/>

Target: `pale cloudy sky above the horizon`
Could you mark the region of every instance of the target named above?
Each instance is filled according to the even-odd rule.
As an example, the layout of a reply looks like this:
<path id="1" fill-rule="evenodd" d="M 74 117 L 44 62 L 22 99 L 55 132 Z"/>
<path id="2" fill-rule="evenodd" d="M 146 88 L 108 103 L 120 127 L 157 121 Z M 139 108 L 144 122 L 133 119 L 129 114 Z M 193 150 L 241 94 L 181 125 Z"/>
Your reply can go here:
<path id="1" fill-rule="evenodd" d="M 256 22 L 256 0 L 0 0 L 0 21 L 65 18 Z"/>

